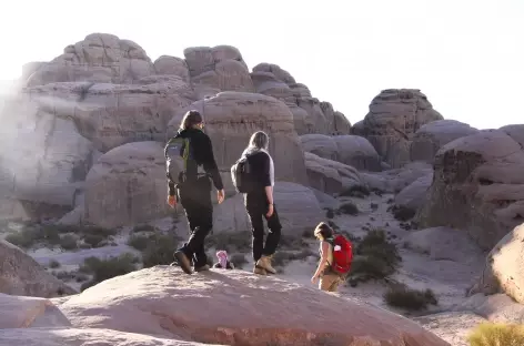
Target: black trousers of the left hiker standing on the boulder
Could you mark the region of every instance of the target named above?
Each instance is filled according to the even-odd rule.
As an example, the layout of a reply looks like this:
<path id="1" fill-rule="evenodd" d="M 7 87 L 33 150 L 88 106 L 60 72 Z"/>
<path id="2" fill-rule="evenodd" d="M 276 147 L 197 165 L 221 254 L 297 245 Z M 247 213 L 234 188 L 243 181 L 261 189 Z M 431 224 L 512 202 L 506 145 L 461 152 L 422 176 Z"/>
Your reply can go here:
<path id="1" fill-rule="evenodd" d="M 213 228 L 211 181 L 209 177 L 201 177 L 195 182 L 181 184 L 179 197 L 190 228 L 189 240 L 179 250 L 193 262 L 194 267 L 201 267 L 208 264 L 204 242 Z"/>

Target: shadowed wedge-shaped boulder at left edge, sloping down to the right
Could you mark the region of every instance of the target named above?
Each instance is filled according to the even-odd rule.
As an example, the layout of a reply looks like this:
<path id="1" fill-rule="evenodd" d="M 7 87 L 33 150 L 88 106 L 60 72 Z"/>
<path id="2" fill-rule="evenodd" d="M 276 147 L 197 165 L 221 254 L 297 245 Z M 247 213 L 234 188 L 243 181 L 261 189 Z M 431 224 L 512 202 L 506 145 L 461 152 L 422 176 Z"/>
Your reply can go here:
<path id="1" fill-rule="evenodd" d="M 46 272 L 22 250 L 0 240 L 0 293 L 49 298 L 77 292 Z"/>

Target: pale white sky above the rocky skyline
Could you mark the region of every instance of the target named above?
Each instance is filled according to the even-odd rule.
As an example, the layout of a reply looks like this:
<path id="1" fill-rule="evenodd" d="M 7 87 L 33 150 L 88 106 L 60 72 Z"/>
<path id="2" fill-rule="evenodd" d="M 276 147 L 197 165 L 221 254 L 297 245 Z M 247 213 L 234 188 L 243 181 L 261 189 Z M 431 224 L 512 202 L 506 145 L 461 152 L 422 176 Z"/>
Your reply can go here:
<path id="1" fill-rule="evenodd" d="M 524 0 L 16 0 L 2 3 L 0 81 L 92 32 L 139 43 L 154 61 L 230 44 L 276 63 L 351 123 L 382 89 L 415 88 L 445 119 L 524 123 Z"/>

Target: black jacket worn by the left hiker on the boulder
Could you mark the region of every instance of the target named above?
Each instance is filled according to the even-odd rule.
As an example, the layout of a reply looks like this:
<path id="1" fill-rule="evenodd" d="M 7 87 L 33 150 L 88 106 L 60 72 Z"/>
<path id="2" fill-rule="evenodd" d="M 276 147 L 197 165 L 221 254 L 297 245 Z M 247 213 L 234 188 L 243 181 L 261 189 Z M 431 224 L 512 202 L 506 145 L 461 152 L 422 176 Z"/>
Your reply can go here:
<path id="1" fill-rule="evenodd" d="M 216 190 L 224 189 L 219 167 L 214 161 L 213 145 L 209 135 L 199 129 L 179 130 L 177 135 L 190 139 L 191 157 L 196 162 L 196 165 L 203 166 L 205 173 L 213 180 Z"/>

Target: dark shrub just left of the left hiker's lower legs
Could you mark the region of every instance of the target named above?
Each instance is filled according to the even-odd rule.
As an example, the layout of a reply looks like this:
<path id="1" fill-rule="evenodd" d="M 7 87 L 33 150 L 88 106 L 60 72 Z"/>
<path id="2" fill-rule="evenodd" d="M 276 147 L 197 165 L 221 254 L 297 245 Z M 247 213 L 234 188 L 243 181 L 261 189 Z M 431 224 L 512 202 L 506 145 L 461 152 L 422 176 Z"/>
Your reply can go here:
<path id="1" fill-rule="evenodd" d="M 149 268 L 173 263 L 177 245 L 178 242 L 172 235 L 153 234 L 149 237 L 148 245 L 142 251 L 143 267 Z"/>

